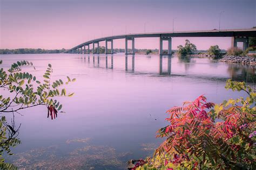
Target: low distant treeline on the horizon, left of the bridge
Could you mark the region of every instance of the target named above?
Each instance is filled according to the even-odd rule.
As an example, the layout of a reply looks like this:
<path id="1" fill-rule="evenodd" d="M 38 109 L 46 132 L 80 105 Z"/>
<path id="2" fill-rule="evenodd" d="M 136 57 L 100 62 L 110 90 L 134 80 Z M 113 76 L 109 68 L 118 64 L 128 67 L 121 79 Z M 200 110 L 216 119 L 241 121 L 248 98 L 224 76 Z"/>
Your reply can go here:
<path id="1" fill-rule="evenodd" d="M 18 48 L 18 49 L 0 49 L 0 54 L 48 54 L 62 53 L 66 49 L 42 49 L 42 48 Z"/>

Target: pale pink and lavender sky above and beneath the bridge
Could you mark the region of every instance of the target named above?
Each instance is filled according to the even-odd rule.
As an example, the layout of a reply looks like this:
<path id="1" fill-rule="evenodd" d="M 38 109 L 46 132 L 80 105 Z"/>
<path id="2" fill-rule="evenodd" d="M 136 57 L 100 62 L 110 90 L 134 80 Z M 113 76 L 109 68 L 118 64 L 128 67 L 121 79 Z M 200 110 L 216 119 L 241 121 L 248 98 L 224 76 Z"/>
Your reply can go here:
<path id="1" fill-rule="evenodd" d="M 0 48 L 71 48 L 112 34 L 249 29 L 256 26 L 255 0 L 0 0 Z M 126 29 L 125 29 L 126 28 Z M 173 49 L 186 38 L 174 38 Z M 231 38 L 188 38 L 198 49 Z M 158 48 L 157 38 L 135 40 L 136 48 Z M 100 45 L 104 45 L 102 42 Z M 114 40 L 124 48 L 124 40 Z"/>

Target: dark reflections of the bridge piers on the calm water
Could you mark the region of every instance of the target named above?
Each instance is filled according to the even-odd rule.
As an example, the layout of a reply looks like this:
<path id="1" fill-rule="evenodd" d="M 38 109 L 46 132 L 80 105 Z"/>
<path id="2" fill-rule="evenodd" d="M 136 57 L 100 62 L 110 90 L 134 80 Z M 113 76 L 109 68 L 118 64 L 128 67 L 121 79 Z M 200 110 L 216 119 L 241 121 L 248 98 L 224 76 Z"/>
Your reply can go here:
<path id="1" fill-rule="evenodd" d="M 113 60 L 114 60 L 114 57 L 113 57 L 113 54 L 111 55 L 105 55 L 105 67 L 104 68 L 109 68 L 109 69 L 113 69 Z M 159 63 L 158 63 L 158 66 L 159 66 L 159 75 L 171 75 L 171 66 L 172 66 L 172 56 L 170 55 L 159 55 Z M 83 57 L 82 57 L 83 58 Z M 87 59 L 86 59 L 87 58 Z M 96 66 L 96 67 L 100 67 L 100 60 L 103 59 L 102 55 L 87 55 L 87 56 L 84 56 L 84 61 L 88 63 L 90 63 L 90 58 L 92 58 L 92 61 L 93 61 L 93 66 Z M 97 65 L 95 65 L 95 60 L 97 58 Z M 109 58 L 111 58 L 111 65 L 109 65 Z M 129 59 L 131 58 L 131 68 L 129 68 Z M 166 66 L 164 65 L 163 66 L 163 58 L 167 58 L 167 70 L 164 70 L 163 67 L 165 68 Z M 165 63 L 164 63 L 165 64 Z M 103 67 L 100 67 L 100 68 L 103 68 Z M 125 55 L 125 71 L 127 73 L 134 73 L 135 72 L 135 55 L 132 54 L 132 55 Z"/>

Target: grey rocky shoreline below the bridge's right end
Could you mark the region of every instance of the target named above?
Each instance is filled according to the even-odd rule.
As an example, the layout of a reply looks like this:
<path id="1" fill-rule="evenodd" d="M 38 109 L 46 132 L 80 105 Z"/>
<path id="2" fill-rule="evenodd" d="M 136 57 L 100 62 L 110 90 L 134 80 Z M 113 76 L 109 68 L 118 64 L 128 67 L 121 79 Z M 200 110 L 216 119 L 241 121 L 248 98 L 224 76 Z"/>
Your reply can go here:
<path id="1" fill-rule="evenodd" d="M 256 58 L 252 56 L 224 55 L 219 61 L 256 65 Z"/>

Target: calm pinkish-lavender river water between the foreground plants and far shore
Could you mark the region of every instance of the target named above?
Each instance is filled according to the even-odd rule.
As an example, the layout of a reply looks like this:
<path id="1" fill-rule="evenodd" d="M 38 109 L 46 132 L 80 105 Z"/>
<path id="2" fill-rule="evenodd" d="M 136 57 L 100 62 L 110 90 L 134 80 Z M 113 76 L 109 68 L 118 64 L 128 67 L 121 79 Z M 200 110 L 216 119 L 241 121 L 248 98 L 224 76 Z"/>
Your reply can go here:
<path id="1" fill-rule="evenodd" d="M 152 155 L 161 139 L 156 131 L 167 125 L 165 111 L 205 94 L 220 103 L 245 96 L 226 90 L 227 79 L 254 85 L 254 66 L 222 63 L 208 58 L 159 58 L 157 55 L 23 54 L 1 55 L 3 67 L 18 60 L 42 80 L 51 63 L 52 79 L 68 75 L 77 81 L 60 97 L 58 118 L 47 118 L 46 107 L 16 114 L 22 144 L 6 160 L 19 168 L 125 169 L 126 161 Z M 1 91 L 2 94 L 5 91 Z"/>

